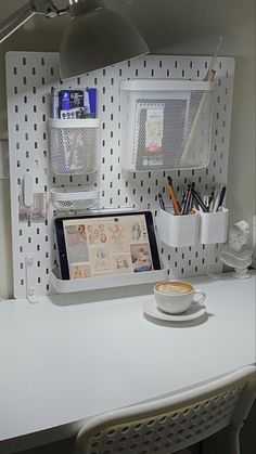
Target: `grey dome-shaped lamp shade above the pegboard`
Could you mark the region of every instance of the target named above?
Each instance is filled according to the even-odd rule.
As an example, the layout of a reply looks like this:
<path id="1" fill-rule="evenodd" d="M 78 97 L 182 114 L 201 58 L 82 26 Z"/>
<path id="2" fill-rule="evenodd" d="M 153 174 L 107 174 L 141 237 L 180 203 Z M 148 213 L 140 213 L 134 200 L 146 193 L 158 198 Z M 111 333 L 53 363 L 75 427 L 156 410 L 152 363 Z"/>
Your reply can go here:
<path id="1" fill-rule="evenodd" d="M 99 8 L 71 18 L 60 49 L 61 78 L 79 76 L 149 51 L 133 25 L 114 11 Z"/>

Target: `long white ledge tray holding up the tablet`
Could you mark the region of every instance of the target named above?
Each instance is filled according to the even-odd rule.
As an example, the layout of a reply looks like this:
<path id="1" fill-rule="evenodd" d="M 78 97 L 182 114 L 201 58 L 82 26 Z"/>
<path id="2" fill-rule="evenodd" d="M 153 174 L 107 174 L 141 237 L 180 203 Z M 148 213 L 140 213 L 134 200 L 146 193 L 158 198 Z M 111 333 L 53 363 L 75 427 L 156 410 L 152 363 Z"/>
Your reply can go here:
<path id="1" fill-rule="evenodd" d="M 126 285 L 152 284 L 167 278 L 167 270 L 144 271 L 141 273 L 112 274 L 78 280 L 61 280 L 57 270 L 50 273 L 50 283 L 59 294 L 97 290 L 99 288 L 123 287 Z"/>

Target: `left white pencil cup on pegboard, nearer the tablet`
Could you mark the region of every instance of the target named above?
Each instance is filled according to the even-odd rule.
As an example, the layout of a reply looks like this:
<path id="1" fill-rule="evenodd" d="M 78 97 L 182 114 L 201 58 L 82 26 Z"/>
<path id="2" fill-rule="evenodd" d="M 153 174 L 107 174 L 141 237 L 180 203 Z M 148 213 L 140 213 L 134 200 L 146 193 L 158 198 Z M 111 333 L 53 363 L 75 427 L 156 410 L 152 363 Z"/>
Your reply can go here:
<path id="1" fill-rule="evenodd" d="M 199 213 L 175 216 L 158 210 L 156 226 L 159 238 L 170 247 L 193 246 L 199 243 Z"/>

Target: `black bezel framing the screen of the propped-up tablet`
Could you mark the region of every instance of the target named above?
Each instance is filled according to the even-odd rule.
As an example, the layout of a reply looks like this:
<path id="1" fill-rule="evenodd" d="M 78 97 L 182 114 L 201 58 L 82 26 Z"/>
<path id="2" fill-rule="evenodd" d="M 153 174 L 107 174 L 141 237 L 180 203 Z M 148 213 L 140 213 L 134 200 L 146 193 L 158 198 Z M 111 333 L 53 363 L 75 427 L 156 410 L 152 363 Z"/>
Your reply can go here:
<path id="1" fill-rule="evenodd" d="M 61 278 L 65 281 L 71 280 L 63 221 L 72 220 L 72 219 L 75 219 L 75 220 L 76 219 L 77 220 L 90 219 L 90 218 L 101 219 L 101 218 L 126 217 L 126 216 L 138 216 L 138 215 L 140 216 L 143 215 L 145 219 L 153 270 L 161 270 L 161 261 L 159 261 L 158 248 L 157 248 L 157 243 L 156 243 L 156 237 L 155 237 L 153 217 L 152 217 L 151 211 L 128 211 L 128 212 L 116 212 L 116 211 L 114 212 L 113 211 L 113 212 L 107 212 L 107 213 L 99 212 L 99 213 L 80 215 L 80 216 L 64 216 L 64 217 L 59 217 L 54 219 Z M 148 271 L 141 271 L 141 272 L 146 273 Z M 118 273 L 116 274 L 112 273 L 110 275 L 111 276 L 118 275 Z M 90 277 L 87 277 L 87 278 L 90 278 Z"/>

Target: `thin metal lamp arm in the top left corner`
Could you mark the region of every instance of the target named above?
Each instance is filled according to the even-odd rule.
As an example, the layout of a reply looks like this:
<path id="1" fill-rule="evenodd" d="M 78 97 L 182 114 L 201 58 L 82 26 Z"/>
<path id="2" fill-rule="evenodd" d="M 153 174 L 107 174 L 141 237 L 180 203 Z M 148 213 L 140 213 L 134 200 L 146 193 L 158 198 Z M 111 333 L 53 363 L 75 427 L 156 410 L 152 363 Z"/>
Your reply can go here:
<path id="1" fill-rule="evenodd" d="M 68 10 L 68 7 L 59 10 L 51 0 L 31 0 L 0 23 L 0 43 L 25 24 L 26 21 L 33 17 L 34 14 L 43 14 L 47 17 L 55 17 L 66 13 Z"/>

